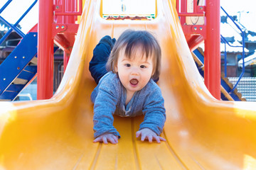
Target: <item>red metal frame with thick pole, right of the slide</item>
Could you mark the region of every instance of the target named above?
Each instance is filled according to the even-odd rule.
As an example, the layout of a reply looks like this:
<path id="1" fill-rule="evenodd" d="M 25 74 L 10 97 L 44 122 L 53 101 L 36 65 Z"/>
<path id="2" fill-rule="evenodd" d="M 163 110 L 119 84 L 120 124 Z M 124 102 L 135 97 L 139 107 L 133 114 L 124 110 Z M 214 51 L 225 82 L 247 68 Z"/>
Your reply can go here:
<path id="1" fill-rule="evenodd" d="M 186 10 L 187 0 L 177 0 L 176 9 L 191 51 L 205 41 L 205 84 L 220 100 L 220 0 L 206 0 L 206 6 L 193 1 L 193 13 Z M 181 6 L 181 7 L 180 7 Z M 186 25 L 186 16 L 205 16 L 205 25 Z"/>

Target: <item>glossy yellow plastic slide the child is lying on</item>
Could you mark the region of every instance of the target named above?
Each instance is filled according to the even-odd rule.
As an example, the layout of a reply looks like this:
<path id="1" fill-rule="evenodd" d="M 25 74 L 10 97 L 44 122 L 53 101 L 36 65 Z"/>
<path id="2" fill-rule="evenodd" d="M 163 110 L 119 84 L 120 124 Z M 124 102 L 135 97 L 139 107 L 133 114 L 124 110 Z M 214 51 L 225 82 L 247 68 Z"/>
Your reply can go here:
<path id="1" fill-rule="evenodd" d="M 218 101 L 196 69 L 171 0 L 154 21 L 105 21 L 100 1 L 85 1 L 75 45 L 50 100 L 0 102 L 0 169 L 256 169 L 256 104 Z M 149 30 L 159 39 L 166 142 L 135 137 L 143 117 L 114 118 L 117 145 L 93 143 L 92 50 L 104 35 Z"/>

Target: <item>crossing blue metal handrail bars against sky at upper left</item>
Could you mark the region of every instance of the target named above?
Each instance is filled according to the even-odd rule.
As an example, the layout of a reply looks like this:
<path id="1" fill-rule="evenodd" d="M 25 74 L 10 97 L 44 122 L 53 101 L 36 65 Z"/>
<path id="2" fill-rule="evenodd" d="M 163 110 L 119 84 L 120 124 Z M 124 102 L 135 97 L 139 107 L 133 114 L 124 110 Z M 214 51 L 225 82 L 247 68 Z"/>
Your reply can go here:
<path id="1" fill-rule="evenodd" d="M 4 4 L 4 6 L 0 9 L 0 13 L 2 11 L 4 11 L 4 9 L 11 3 L 12 0 L 9 0 L 6 2 L 6 4 Z M 0 40 L 0 44 L 2 42 L 4 42 L 4 40 L 6 40 L 6 38 L 11 34 L 12 30 L 16 31 L 16 33 L 18 33 L 18 35 L 20 35 L 22 38 L 25 37 L 25 34 L 19 29 L 17 28 L 18 23 L 21 22 L 21 20 L 28 14 L 29 11 L 31 11 L 31 8 L 33 8 L 33 6 L 35 6 L 36 2 L 38 0 L 35 0 L 33 2 L 33 4 L 31 4 L 31 6 L 28 7 L 28 9 L 23 13 L 23 15 L 18 19 L 18 21 L 16 21 L 16 23 L 14 23 L 14 25 L 12 25 L 11 23 L 9 23 L 8 21 L 6 21 L 3 17 L 0 16 L 0 20 L 3 21 L 7 26 L 10 27 L 10 29 L 8 30 L 8 32 L 1 38 Z"/>

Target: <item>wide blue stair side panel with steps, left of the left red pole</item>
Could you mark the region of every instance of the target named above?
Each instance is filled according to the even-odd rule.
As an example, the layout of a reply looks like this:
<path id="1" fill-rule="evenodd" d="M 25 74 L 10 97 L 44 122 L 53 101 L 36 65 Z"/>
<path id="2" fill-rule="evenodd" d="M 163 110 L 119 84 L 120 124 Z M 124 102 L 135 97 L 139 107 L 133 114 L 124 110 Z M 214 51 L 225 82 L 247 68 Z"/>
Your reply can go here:
<path id="1" fill-rule="evenodd" d="M 37 73 L 38 33 L 28 33 L 0 65 L 0 101 L 13 101 Z"/>

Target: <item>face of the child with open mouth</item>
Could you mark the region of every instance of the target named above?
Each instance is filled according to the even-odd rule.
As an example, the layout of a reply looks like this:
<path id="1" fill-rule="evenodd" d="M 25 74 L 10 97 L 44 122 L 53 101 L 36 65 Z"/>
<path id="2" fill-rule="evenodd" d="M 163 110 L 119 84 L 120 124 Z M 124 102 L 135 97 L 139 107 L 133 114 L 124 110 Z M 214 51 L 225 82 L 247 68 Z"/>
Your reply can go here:
<path id="1" fill-rule="evenodd" d="M 153 57 L 142 56 L 142 50 L 138 48 L 134 52 L 134 56 L 126 57 L 124 49 L 120 50 L 117 66 L 114 67 L 115 72 L 118 73 L 122 85 L 127 90 L 127 93 L 134 93 L 139 91 L 149 82 L 153 74 Z"/>

